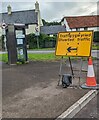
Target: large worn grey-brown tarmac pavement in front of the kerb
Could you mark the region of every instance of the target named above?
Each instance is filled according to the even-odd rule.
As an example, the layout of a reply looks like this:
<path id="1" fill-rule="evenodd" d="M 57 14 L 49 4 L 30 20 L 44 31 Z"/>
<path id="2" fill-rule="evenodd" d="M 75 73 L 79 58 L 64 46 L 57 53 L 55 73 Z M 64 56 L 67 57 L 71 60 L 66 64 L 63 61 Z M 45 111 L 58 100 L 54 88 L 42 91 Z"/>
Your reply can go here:
<path id="1" fill-rule="evenodd" d="M 95 73 L 97 64 L 94 60 Z M 72 60 L 75 75 L 79 72 L 79 60 Z M 83 69 L 86 69 L 83 61 Z M 64 89 L 57 86 L 59 61 L 37 62 L 10 66 L 2 64 L 2 117 L 3 118 L 57 118 L 89 92 L 79 87 Z M 78 71 L 77 71 L 78 69 Z M 62 73 L 70 73 L 68 61 Z M 81 74 L 80 84 L 85 83 L 86 72 Z M 78 85 L 79 79 L 73 79 Z"/>

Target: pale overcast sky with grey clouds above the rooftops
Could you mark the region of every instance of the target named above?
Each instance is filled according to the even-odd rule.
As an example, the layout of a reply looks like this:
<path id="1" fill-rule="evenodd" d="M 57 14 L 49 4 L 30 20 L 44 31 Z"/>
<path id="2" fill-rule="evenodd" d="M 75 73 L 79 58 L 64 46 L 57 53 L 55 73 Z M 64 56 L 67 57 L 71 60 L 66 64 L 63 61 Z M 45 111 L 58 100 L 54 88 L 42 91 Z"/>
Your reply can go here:
<path id="1" fill-rule="evenodd" d="M 28 2 L 27 2 L 28 1 Z M 60 21 L 64 16 L 82 16 L 97 14 L 98 0 L 38 0 L 41 17 L 46 21 Z M 54 2 L 53 2 L 54 1 Z M 87 1 L 87 2 L 86 2 Z M 3 0 L 0 13 L 7 12 L 11 5 L 12 11 L 31 10 L 36 0 Z"/>

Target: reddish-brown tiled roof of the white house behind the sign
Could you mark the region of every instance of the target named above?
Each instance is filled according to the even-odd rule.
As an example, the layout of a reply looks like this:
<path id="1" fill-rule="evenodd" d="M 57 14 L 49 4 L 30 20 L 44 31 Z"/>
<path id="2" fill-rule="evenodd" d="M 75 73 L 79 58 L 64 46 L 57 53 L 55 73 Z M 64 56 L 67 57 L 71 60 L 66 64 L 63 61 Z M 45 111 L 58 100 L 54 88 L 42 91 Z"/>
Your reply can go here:
<path id="1" fill-rule="evenodd" d="M 98 27 L 99 15 L 64 17 L 70 28 Z M 63 19 L 64 19 L 63 18 Z M 63 21 L 62 19 L 62 21 Z"/>

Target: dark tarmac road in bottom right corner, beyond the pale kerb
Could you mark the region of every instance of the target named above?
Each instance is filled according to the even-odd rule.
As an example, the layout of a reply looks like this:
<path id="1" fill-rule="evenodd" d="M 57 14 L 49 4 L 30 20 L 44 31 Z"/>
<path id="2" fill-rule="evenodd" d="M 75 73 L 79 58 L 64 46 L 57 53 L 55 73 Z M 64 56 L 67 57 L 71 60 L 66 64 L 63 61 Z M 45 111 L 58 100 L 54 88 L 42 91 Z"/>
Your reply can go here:
<path id="1" fill-rule="evenodd" d="M 97 61 L 96 80 L 99 84 L 99 62 Z M 99 119 L 99 93 L 93 98 L 74 118 L 98 118 Z"/>

